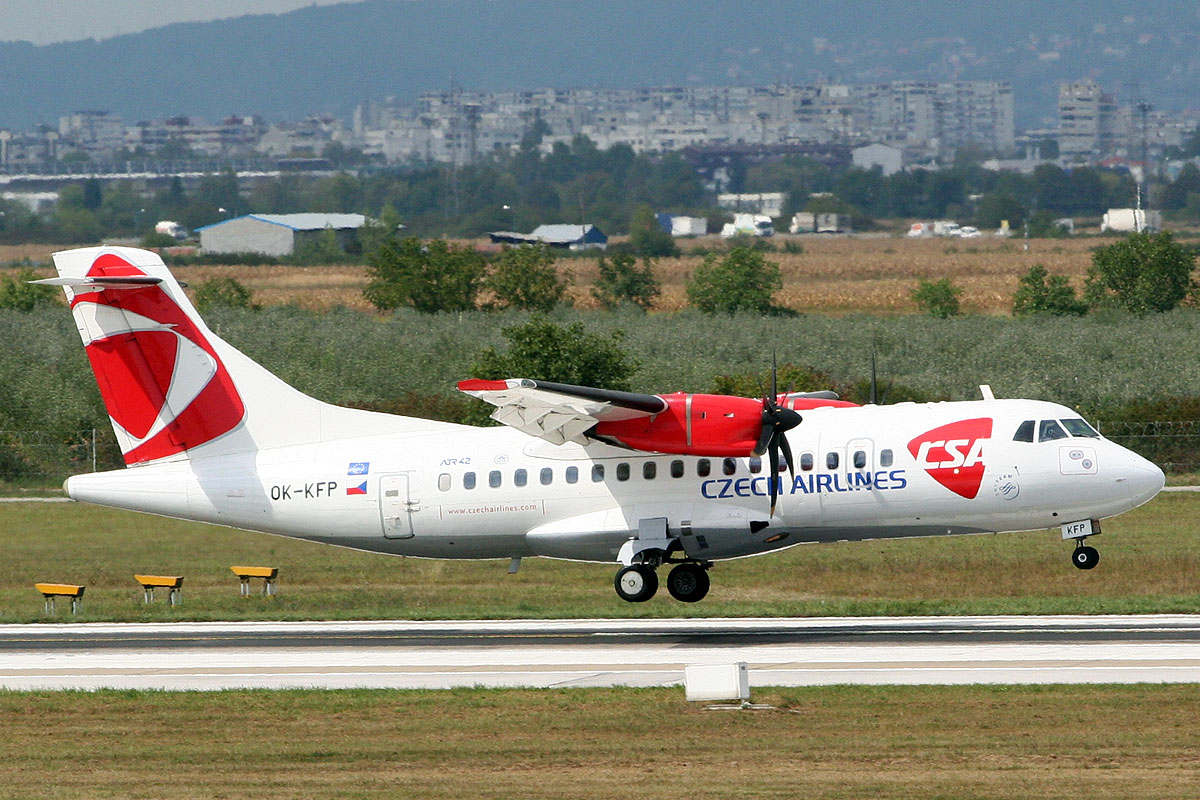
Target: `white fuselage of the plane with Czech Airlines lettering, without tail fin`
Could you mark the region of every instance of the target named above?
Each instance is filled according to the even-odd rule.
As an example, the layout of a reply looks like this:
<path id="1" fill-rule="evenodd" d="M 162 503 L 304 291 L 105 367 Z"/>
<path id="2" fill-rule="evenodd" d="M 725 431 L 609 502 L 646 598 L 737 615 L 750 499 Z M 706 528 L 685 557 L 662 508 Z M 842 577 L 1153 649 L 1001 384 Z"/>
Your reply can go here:
<path id="1" fill-rule="evenodd" d="M 665 519 L 688 558 L 709 561 L 802 542 L 1099 519 L 1163 486 L 1157 467 L 1106 439 L 1014 440 L 1024 421 L 1037 429 L 1044 420 L 1078 417 L 1052 403 L 803 414 L 787 434 L 796 474 L 780 476 L 774 517 L 760 459 L 551 445 L 509 428 L 445 427 L 168 461 L 79 475 L 67 491 L 77 500 L 365 551 L 612 563 L 646 519 Z M 954 438 L 965 421 L 990 421 L 990 435 Z"/>

